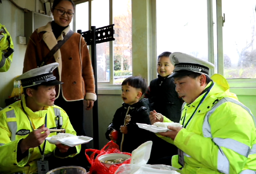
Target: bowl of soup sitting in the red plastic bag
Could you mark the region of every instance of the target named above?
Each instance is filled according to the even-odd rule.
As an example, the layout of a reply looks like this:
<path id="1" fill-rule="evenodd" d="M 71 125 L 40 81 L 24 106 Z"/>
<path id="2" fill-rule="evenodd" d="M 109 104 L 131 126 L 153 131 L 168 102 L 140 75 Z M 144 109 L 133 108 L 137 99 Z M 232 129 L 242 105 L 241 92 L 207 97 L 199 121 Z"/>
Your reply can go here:
<path id="1" fill-rule="evenodd" d="M 130 155 L 126 155 L 123 153 L 109 153 L 99 157 L 100 162 L 109 168 L 113 164 L 121 164 L 125 160 L 131 158 Z"/>

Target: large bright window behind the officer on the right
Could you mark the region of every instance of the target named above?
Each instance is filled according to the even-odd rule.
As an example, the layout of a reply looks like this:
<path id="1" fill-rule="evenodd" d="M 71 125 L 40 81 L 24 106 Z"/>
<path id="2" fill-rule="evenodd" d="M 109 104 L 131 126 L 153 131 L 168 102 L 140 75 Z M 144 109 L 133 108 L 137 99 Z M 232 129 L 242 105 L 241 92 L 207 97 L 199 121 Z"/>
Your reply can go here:
<path id="1" fill-rule="evenodd" d="M 157 55 L 184 52 L 227 79 L 256 78 L 255 7 L 254 0 L 156 0 Z"/>

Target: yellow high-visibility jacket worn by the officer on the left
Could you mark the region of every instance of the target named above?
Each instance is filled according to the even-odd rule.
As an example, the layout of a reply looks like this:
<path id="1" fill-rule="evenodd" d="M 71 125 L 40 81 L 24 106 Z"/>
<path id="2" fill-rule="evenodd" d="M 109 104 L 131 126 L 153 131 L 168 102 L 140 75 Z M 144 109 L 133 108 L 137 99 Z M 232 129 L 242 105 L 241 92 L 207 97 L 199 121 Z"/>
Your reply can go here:
<path id="1" fill-rule="evenodd" d="M 33 112 L 26 107 L 25 97 L 22 100 L 17 101 L 7 108 L 0 111 L 0 173 L 12 174 L 15 172 L 21 173 L 34 173 L 37 172 L 37 161 L 41 159 L 41 153 L 39 148 L 29 149 L 29 155 L 23 158 L 21 161 L 17 161 L 17 145 L 21 139 L 24 139 L 28 134 L 33 131 L 28 117 L 21 108 L 21 102 L 23 103 L 24 110 L 28 114 L 28 117 L 36 129 L 45 124 L 45 116 L 47 113 L 47 128 L 56 128 L 57 122 L 55 117 L 63 117 L 62 128 L 66 130 L 66 133 L 76 135 L 73 129 L 67 113 L 59 106 L 45 106 L 44 110 Z M 49 137 L 56 135 L 56 132 L 52 132 Z M 44 143 L 40 145 L 43 149 Z M 46 141 L 45 157 L 54 153 L 56 146 Z M 81 145 L 76 146 L 78 154 L 80 152 Z M 69 155 L 73 157 L 76 154 Z M 56 156 L 57 157 L 57 156 Z"/>

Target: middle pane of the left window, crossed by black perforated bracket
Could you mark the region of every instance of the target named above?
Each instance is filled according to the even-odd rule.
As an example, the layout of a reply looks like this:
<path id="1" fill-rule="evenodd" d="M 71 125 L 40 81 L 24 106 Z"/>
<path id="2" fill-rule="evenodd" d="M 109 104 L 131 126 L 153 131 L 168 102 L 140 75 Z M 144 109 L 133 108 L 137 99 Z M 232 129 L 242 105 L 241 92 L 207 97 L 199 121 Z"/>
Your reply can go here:
<path id="1" fill-rule="evenodd" d="M 92 1 L 92 26 L 96 29 L 109 25 L 109 1 Z M 109 42 L 96 44 L 97 56 L 97 80 L 98 82 L 109 82 Z"/>

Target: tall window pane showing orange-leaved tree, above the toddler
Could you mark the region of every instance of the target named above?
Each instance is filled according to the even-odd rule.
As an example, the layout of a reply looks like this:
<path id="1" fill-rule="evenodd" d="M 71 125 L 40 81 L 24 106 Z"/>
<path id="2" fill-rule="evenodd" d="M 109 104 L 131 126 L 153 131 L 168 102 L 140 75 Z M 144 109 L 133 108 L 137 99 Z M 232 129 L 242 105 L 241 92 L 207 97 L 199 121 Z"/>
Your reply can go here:
<path id="1" fill-rule="evenodd" d="M 114 17 L 114 85 L 132 76 L 132 8 L 131 0 L 113 0 Z"/>

